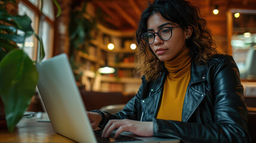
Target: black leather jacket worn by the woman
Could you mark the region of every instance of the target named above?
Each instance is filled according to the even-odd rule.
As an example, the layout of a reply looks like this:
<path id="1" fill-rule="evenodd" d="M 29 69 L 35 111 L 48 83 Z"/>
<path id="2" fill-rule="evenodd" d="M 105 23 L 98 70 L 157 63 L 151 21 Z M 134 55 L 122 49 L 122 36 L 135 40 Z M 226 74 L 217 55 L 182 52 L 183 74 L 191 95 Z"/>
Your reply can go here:
<path id="1" fill-rule="evenodd" d="M 160 73 L 154 82 L 143 76 L 140 89 L 124 110 L 117 114 L 101 112 L 100 127 L 104 128 L 109 119 L 153 121 L 155 136 L 184 142 L 250 142 L 243 86 L 231 56 L 215 55 L 205 66 L 192 62 L 182 122 L 156 119 L 167 72 Z"/>

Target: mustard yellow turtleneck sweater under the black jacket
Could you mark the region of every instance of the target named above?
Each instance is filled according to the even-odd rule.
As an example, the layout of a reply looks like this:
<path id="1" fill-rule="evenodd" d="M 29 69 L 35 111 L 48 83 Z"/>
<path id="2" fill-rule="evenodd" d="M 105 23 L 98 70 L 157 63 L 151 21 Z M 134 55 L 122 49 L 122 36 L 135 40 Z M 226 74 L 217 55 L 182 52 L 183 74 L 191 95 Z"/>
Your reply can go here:
<path id="1" fill-rule="evenodd" d="M 169 73 L 157 119 L 181 121 L 184 97 L 190 81 L 190 61 L 189 48 L 185 48 L 175 59 L 165 61 Z"/>

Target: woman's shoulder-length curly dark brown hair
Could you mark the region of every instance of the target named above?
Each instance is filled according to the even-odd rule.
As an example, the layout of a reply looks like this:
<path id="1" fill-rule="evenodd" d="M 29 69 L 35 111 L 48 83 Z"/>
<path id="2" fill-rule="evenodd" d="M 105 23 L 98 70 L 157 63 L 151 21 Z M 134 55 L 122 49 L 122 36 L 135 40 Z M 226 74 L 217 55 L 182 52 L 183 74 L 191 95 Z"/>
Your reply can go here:
<path id="1" fill-rule="evenodd" d="M 206 20 L 200 14 L 197 7 L 186 0 L 155 0 L 149 2 L 149 7 L 141 14 L 138 29 L 136 31 L 136 42 L 139 52 L 137 54 L 135 70 L 143 72 L 146 80 L 155 80 L 164 64 L 156 57 L 141 35 L 147 32 L 147 20 L 155 13 L 160 13 L 166 20 L 178 24 L 182 29 L 188 26 L 193 28 L 193 33 L 186 39 L 186 45 L 190 48 L 190 55 L 195 57 L 195 63 L 201 65 L 206 63 L 214 54 L 217 54 L 217 45 L 212 39 L 211 30 L 206 26 Z"/>

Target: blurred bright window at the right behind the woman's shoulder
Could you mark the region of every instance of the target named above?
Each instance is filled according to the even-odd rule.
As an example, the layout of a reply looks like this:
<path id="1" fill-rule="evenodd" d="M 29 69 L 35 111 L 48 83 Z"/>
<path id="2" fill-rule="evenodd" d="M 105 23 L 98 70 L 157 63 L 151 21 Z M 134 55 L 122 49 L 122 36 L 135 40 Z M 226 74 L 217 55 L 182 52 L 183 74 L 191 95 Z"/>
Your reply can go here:
<path id="1" fill-rule="evenodd" d="M 255 79 L 256 10 L 230 10 L 231 46 L 242 79 Z"/>

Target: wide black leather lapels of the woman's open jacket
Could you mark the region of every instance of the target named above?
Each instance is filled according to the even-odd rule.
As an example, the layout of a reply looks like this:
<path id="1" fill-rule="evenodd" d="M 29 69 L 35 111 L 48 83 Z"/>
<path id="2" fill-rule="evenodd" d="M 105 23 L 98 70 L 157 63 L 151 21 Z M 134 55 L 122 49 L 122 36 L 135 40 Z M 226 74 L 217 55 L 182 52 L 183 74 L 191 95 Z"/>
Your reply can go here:
<path id="1" fill-rule="evenodd" d="M 162 88 L 164 87 L 164 83 L 165 83 L 165 79 L 166 79 L 166 75 L 168 74 L 168 71 L 164 67 L 164 71 L 159 74 L 161 74 L 161 76 L 159 76 L 154 82 L 147 82 L 147 86 L 151 88 L 151 89 L 147 88 L 147 91 L 152 93 L 153 92 L 159 93 L 160 98 L 158 98 L 158 100 L 155 101 L 155 102 L 158 102 L 158 104 L 156 105 L 157 107 L 159 107 L 159 104 L 161 103 L 161 96 L 162 96 L 161 91 L 162 91 Z M 187 88 L 187 90 L 189 91 L 186 92 L 186 96 L 184 98 L 184 103 L 183 103 L 183 114 L 182 114 L 183 122 L 187 122 L 190 119 L 193 112 L 195 111 L 195 108 L 198 107 L 202 99 L 205 97 L 205 92 L 198 91 L 197 88 L 193 88 L 190 90 L 191 86 L 195 85 L 195 83 L 199 83 L 199 84 L 196 84 L 195 86 L 200 86 L 201 88 L 204 88 L 202 87 L 204 85 L 201 85 L 200 83 L 203 83 L 205 81 L 206 81 L 206 65 L 197 66 L 195 64 L 195 58 L 192 58 L 191 70 L 190 70 L 190 83 Z M 146 82 L 146 80 L 144 82 Z M 149 92 L 144 92 L 144 96 L 142 97 L 142 99 L 146 98 Z M 188 95 L 188 92 L 190 92 L 189 95 Z M 159 108 L 157 108 L 155 112 L 155 117 L 156 117 L 156 114 L 158 113 L 158 110 Z"/>

